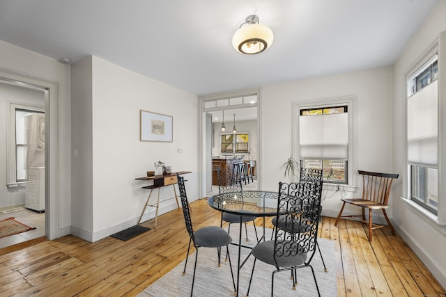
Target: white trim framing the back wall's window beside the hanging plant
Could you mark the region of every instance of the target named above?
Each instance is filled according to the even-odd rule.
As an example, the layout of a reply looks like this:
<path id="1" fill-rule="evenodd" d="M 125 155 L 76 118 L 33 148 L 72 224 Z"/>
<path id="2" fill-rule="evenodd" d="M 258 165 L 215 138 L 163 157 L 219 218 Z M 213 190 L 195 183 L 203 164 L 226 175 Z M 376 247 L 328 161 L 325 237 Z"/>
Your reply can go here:
<path id="1" fill-rule="evenodd" d="M 355 174 L 357 172 L 357 135 L 356 135 L 356 114 L 357 114 L 357 96 L 346 95 L 341 97 L 328 97 L 320 99 L 312 99 L 306 101 L 293 102 L 293 141 L 292 152 L 296 156 L 296 159 L 300 159 L 300 145 L 298 145 L 299 139 L 299 117 L 300 109 L 316 109 L 318 107 L 336 107 L 347 106 L 348 111 L 348 160 L 347 170 L 349 172 L 347 176 L 346 184 L 337 184 L 341 186 L 355 186 Z M 332 183 L 326 183 L 332 184 Z"/>

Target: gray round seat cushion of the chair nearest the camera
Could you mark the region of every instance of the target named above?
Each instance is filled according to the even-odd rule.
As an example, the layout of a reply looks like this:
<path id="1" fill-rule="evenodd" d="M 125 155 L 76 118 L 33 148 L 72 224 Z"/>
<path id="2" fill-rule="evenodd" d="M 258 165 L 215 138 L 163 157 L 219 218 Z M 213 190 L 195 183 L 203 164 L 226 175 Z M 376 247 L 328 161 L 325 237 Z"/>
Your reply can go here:
<path id="1" fill-rule="evenodd" d="M 282 244 L 286 246 L 286 243 L 293 243 L 293 241 L 284 241 Z M 291 245 L 295 247 L 295 244 Z M 256 259 L 259 259 L 261 262 L 265 262 L 271 265 L 279 267 L 292 267 L 292 266 L 299 266 L 307 260 L 307 252 L 302 252 L 298 255 L 287 255 L 287 252 L 284 252 L 282 256 L 276 256 L 274 257 L 275 253 L 275 246 L 274 241 L 263 241 L 256 245 L 252 249 L 252 255 L 256 257 Z M 286 256 L 287 255 L 287 256 Z"/>

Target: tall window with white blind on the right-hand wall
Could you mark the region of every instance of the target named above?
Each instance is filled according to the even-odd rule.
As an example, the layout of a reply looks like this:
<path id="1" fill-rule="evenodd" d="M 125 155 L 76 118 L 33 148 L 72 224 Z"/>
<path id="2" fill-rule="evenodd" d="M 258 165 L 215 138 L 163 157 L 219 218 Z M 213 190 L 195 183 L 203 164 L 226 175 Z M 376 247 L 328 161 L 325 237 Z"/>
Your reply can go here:
<path id="1" fill-rule="evenodd" d="M 438 61 L 434 54 L 407 80 L 407 164 L 410 198 L 438 212 Z"/>

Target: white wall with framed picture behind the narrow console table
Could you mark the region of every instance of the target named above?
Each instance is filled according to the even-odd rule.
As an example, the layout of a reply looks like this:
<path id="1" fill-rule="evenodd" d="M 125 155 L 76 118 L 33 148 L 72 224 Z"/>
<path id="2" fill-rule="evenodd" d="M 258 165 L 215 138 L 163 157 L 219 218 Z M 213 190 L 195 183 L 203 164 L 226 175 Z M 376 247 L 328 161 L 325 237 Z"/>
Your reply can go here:
<path id="1" fill-rule="evenodd" d="M 84 83 L 72 82 L 72 100 L 80 99 L 82 107 L 73 109 L 73 131 L 82 121 L 82 114 L 91 112 L 91 127 L 82 128 L 79 137 L 73 132 L 73 148 L 85 147 L 90 152 L 79 152 L 73 158 L 73 204 L 80 201 L 80 209 L 92 207 L 91 217 L 84 213 L 72 212 L 73 232 L 86 240 L 96 241 L 114 232 L 137 223 L 144 207 L 148 191 L 141 188 L 151 182 L 135 180 L 146 175 L 147 170 L 154 170 L 153 163 L 161 160 L 172 166 L 174 171 L 192 171 L 185 175 L 189 200 L 198 198 L 198 111 L 197 96 L 178 90 L 159 81 L 137 74 L 98 57 L 87 58 L 91 63 L 91 100 L 80 99 L 75 92 L 83 88 Z M 91 62 L 90 62 L 91 61 Z M 85 63 L 81 61 L 80 63 Z M 73 66 L 73 69 L 75 66 Z M 90 71 L 89 67 L 82 71 Z M 73 74 L 73 80 L 82 80 L 82 75 Z M 88 84 L 87 84 L 88 86 Z M 88 90 L 88 89 L 87 89 Z M 89 94 L 82 94 L 89 96 Z M 79 94 L 79 96 L 82 96 Z M 91 109 L 91 111 L 89 111 Z M 153 111 L 171 115 L 174 118 L 174 136 L 172 143 L 139 141 L 139 111 Z M 87 116 L 87 122 L 89 116 Z M 82 122 L 85 125 L 85 122 Z M 84 137 L 82 134 L 85 134 Z M 90 137 L 92 143 L 90 144 Z M 179 153 L 178 149 L 183 152 Z M 85 162 L 91 154 L 91 164 Z M 77 162 L 81 162 L 77 166 Z M 87 183 L 92 192 L 75 193 L 75 188 L 82 186 L 84 172 L 92 167 L 92 179 Z M 178 190 L 177 190 L 178 193 Z M 89 195 L 91 194 L 91 198 Z M 157 190 L 152 195 L 156 197 Z M 161 188 L 161 200 L 174 196 L 172 187 Z M 84 196 L 83 196 L 84 195 Z M 89 203 L 92 202 L 90 206 Z M 175 200 L 160 205 L 160 214 L 176 208 Z M 153 218 L 155 209 L 148 207 L 144 220 Z M 90 216 L 90 212 L 87 213 Z M 82 225 L 80 220 L 88 220 Z M 79 224 L 74 225 L 75 222 Z"/>

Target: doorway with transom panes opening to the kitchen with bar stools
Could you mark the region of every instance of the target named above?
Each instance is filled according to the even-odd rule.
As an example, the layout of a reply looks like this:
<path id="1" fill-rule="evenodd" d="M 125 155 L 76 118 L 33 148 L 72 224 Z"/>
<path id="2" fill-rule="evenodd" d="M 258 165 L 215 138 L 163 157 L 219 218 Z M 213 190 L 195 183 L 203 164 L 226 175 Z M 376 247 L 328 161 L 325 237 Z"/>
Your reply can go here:
<path id="1" fill-rule="evenodd" d="M 199 98 L 203 115 L 200 117 L 202 137 L 199 156 L 200 168 L 203 170 L 200 197 L 213 195 L 218 191 L 215 186 L 216 168 L 213 163 L 219 163 L 222 159 L 243 159 L 253 164 L 254 172 L 256 172 L 254 181 L 243 186 L 249 189 L 260 188 L 259 93 L 259 89 L 253 89 Z M 209 125 L 209 117 L 212 118 L 211 125 Z M 222 126 L 226 129 L 222 129 Z M 236 133 L 233 133 L 233 130 Z M 233 143 L 222 145 L 225 141 Z M 209 191 L 210 185 L 213 185 L 212 191 Z"/>

